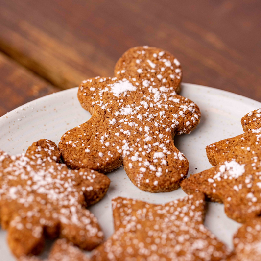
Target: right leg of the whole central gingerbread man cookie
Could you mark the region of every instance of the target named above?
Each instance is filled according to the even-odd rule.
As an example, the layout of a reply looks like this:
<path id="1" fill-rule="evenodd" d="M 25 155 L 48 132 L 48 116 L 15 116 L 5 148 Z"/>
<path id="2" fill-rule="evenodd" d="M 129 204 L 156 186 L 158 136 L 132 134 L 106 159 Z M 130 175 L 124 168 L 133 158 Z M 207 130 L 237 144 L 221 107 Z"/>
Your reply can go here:
<path id="1" fill-rule="evenodd" d="M 134 185 L 150 192 L 178 189 L 187 176 L 189 162 L 174 143 L 161 145 L 152 139 L 138 145 L 124 157 L 124 169 Z"/>

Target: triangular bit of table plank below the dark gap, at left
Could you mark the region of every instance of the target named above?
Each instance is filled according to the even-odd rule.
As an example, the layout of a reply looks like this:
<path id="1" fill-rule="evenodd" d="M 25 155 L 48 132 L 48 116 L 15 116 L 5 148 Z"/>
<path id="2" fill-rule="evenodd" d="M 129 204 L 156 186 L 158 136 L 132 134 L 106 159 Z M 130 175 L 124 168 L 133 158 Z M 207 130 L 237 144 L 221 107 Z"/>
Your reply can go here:
<path id="1" fill-rule="evenodd" d="M 59 90 L 0 53 L 0 116 Z"/>

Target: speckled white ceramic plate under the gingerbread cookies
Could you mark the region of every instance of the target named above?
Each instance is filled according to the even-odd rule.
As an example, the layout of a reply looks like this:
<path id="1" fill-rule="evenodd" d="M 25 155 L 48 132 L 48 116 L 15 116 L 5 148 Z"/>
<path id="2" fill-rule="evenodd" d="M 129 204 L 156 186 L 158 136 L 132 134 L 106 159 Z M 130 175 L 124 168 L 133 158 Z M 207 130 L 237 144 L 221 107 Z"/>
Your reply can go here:
<path id="1" fill-rule="evenodd" d="M 77 100 L 77 89 L 62 91 L 29 102 L 0 118 L 0 148 L 9 154 L 18 154 L 39 139 L 50 139 L 58 144 L 69 129 L 82 124 L 90 114 Z M 190 162 L 189 174 L 210 168 L 205 153 L 208 144 L 242 133 L 240 119 L 246 113 L 261 108 L 252 99 L 195 84 L 183 84 L 181 95 L 190 98 L 200 108 L 202 116 L 197 129 L 190 135 L 175 137 L 175 145 Z M 178 189 L 168 193 L 152 194 L 135 187 L 123 168 L 108 174 L 110 188 L 102 201 L 90 210 L 109 237 L 113 232 L 111 199 L 115 196 L 141 199 L 150 203 L 165 203 L 186 194 Z M 222 204 L 209 203 L 205 225 L 222 241 L 232 247 L 232 237 L 240 226 L 229 219 Z M 15 261 L 6 243 L 6 232 L 0 230 L 0 257 Z"/>

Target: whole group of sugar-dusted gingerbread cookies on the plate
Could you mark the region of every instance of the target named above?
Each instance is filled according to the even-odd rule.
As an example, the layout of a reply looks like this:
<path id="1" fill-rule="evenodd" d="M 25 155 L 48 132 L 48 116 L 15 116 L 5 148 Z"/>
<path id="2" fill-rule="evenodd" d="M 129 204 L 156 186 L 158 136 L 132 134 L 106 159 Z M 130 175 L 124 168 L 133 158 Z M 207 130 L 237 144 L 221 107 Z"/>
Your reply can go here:
<path id="1" fill-rule="evenodd" d="M 169 52 L 134 47 L 114 77 L 82 81 L 78 100 L 92 117 L 57 145 L 34 142 L 25 154 L 0 151 L 0 222 L 20 261 L 39 261 L 47 238 L 58 239 L 48 261 L 261 260 L 261 109 L 241 120 L 244 133 L 207 146 L 211 169 L 187 178 L 189 162 L 174 145 L 200 110 L 181 95 L 182 69 Z M 189 195 L 155 205 L 112 200 L 115 233 L 104 242 L 87 207 L 106 194 L 104 175 L 123 165 L 140 190 Z M 244 223 L 230 251 L 204 226 L 206 200 L 224 203 Z"/>

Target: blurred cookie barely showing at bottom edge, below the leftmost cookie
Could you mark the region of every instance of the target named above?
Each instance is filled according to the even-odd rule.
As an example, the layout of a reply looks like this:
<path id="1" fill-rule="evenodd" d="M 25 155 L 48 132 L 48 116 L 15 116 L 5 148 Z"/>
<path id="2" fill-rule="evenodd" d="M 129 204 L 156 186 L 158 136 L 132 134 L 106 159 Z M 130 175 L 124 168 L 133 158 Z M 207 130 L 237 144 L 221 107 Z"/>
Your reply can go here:
<path id="1" fill-rule="evenodd" d="M 49 254 L 49 258 L 44 261 L 89 261 L 90 259 L 77 247 L 73 246 L 65 238 L 58 239 Z M 35 256 L 23 256 L 19 261 L 41 261 Z"/>

